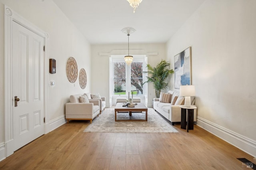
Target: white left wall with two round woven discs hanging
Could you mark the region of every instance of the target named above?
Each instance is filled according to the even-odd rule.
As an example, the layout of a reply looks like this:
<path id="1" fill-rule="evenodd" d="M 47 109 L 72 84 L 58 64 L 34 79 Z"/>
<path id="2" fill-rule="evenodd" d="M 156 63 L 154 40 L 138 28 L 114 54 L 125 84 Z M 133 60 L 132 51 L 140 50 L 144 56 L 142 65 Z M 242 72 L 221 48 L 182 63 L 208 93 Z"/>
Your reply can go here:
<path id="1" fill-rule="evenodd" d="M 48 130 L 53 130 L 65 123 L 64 106 L 72 94 L 84 93 L 90 89 L 81 89 L 79 78 L 70 83 L 66 76 L 66 63 L 74 57 L 78 65 L 91 77 L 90 44 L 77 28 L 66 18 L 52 0 L 0 0 L 0 93 L 4 94 L 4 4 L 20 16 L 49 34 L 48 56 L 56 59 L 56 74 L 48 73 L 48 81 L 55 81 L 55 86 L 48 88 Z M 4 95 L 0 96 L 0 150 L 4 142 Z M 1 159 L 1 158 L 0 158 Z"/>

